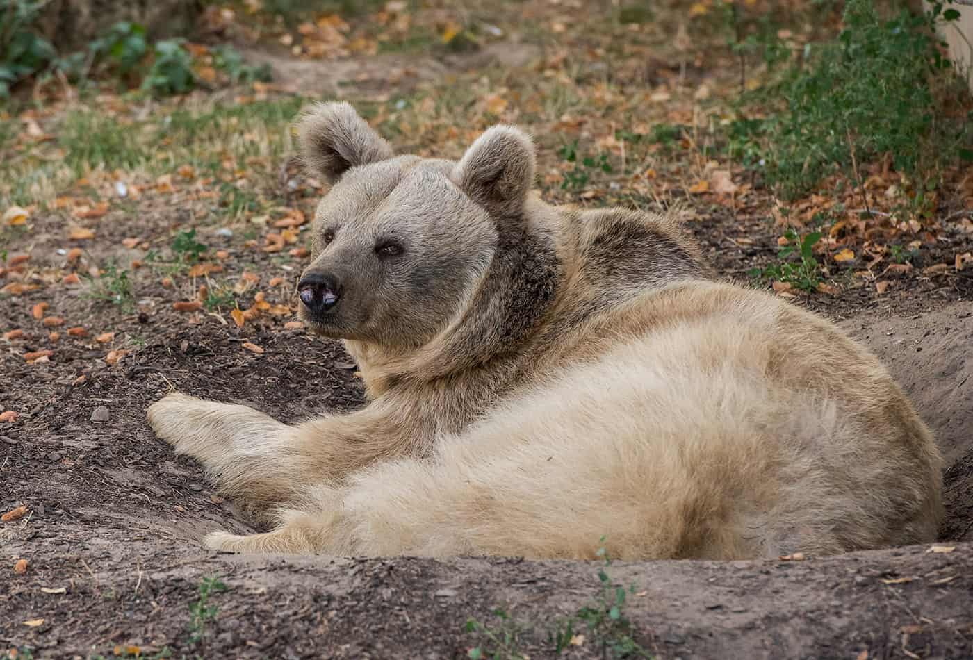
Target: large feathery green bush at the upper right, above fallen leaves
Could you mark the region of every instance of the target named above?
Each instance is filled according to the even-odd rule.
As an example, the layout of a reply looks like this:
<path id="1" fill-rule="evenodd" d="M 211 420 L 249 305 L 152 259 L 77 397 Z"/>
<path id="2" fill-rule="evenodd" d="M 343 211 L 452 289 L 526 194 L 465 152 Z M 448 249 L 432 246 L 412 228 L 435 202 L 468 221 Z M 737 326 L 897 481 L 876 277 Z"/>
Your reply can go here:
<path id="1" fill-rule="evenodd" d="M 973 156 L 964 149 L 973 113 L 951 119 L 943 111 L 968 94 L 938 48 L 936 24 L 958 17 L 944 6 L 882 17 L 873 0 L 847 0 L 838 38 L 805 47 L 800 64 L 761 90 L 784 99 L 781 112 L 731 124 L 731 156 L 762 167 L 767 183 L 792 199 L 831 174 L 852 174 L 855 161 L 888 155 L 921 205 L 945 164 Z M 779 61 L 779 49 L 764 48 L 769 66 Z"/>

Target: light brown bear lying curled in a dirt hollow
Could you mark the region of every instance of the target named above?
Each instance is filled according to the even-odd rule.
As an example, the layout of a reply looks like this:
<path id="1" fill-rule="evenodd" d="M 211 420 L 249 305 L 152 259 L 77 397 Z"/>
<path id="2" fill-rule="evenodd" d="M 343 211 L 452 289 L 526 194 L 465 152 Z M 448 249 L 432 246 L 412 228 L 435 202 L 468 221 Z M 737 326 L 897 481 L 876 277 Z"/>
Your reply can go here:
<path id="1" fill-rule="evenodd" d="M 544 203 L 511 126 L 458 162 L 395 156 L 345 103 L 299 128 L 333 184 L 301 315 L 344 339 L 369 403 L 293 426 L 153 404 L 156 433 L 274 526 L 208 547 L 739 559 L 934 538 L 941 459 L 883 365 L 714 281 L 671 218 Z"/>

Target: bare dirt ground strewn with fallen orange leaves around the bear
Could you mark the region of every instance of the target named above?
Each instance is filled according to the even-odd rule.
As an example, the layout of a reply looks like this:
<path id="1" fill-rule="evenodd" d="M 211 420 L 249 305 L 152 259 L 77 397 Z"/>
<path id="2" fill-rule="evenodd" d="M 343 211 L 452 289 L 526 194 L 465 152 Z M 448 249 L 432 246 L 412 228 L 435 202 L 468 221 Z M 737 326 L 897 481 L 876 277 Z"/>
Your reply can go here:
<path id="1" fill-rule="evenodd" d="M 701 113 L 723 111 L 701 104 L 739 87 L 723 37 L 706 42 L 694 33 L 701 41 L 673 50 L 677 24 L 666 17 L 633 28 L 601 16 L 599 3 L 504 7 L 506 15 L 489 16 L 502 36 L 471 52 L 356 52 L 322 62 L 289 56 L 275 34 L 270 48 L 240 49 L 273 67 L 275 87 L 260 92 L 268 104 L 293 113 L 302 97 L 350 98 L 404 151 L 455 157 L 489 123 L 521 123 L 536 136 L 547 199 L 678 204 L 721 275 L 769 286 L 748 275 L 778 259 L 784 226 L 769 191 L 751 187 L 739 163 L 711 160 L 723 156 L 706 152 L 696 128 L 667 147 L 615 139 L 617 130 L 644 132 L 638 126 L 648 123 L 713 123 Z M 441 19 L 416 14 L 410 27 L 386 18 L 401 28 L 400 40 Z M 351 29 L 365 39 L 371 23 L 363 24 Z M 620 42 L 624 52 L 613 52 Z M 895 176 L 882 163 L 865 172 L 879 210 L 868 220 L 835 211 L 828 194 L 795 203 L 808 220 L 802 232 L 815 212 L 832 214 L 815 253 L 823 286 L 778 292 L 870 346 L 935 432 L 947 466 L 936 545 L 607 568 L 203 550 L 206 532 L 253 528 L 209 490 L 198 465 L 151 433 L 149 403 L 177 389 L 284 421 L 362 403 L 356 366 L 341 346 L 293 323 L 306 216 L 320 190 L 297 173 L 283 123 L 261 132 L 272 113 L 258 115 L 270 107 L 259 103 L 247 111 L 253 97 L 206 92 L 169 107 L 98 96 L 98 112 L 118 119 L 132 144 L 162 136 L 159 150 L 175 150 L 165 164 L 173 171 L 152 169 L 162 167 L 150 157 L 155 142 L 130 172 L 105 163 L 86 164 L 83 176 L 52 170 L 50 180 L 24 185 L 39 191 L 29 219 L 0 226 L 0 412 L 17 413 L 0 422 L 0 512 L 22 511 L 0 523 L 0 657 L 431 659 L 479 649 L 482 657 L 541 658 L 559 654 L 571 617 L 575 634 L 560 655 L 617 657 L 618 629 L 589 628 L 577 617 L 581 608 L 607 611 L 603 568 L 608 582 L 628 589 L 626 634 L 659 658 L 973 657 L 973 267 L 954 265 L 973 250 L 973 177 L 959 171 L 950 173 L 955 190 L 943 191 L 917 226 L 893 222 Z M 213 107 L 240 114 L 221 127 L 206 114 Z M 196 133 L 176 125 L 177 111 L 198 114 Z M 38 171 L 63 158 L 55 137 L 66 112 L 54 103 L 25 113 L 29 135 L 0 142 L 0 156 Z M 178 151 L 184 138 L 198 151 L 223 151 L 205 155 L 213 159 L 206 164 Z M 579 170 L 559 156 L 572 139 L 610 156 L 616 169 L 594 168 L 583 186 L 562 186 Z M 737 191 L 699 188 L 720 168 Z M 848 193 L 849 209 L 858 192 Z M 190 228 L 201 255 L 186 259 L 174 241 Z M 893 260 L 892 246 L 914 244 L 907 260 Z M 835 258 L 844 248 L 853 260 Z M 109 276 L 109 264 L 125 268 L 130 288 Z M 210 303 L 225 301 L 194 304 L 200 285 Z M 245 320 L 234 316 L 251 310 Z M 214 577 L 225 589 L 201 595 Z M 486 632 L 468 631 L 471 618 Z"/>

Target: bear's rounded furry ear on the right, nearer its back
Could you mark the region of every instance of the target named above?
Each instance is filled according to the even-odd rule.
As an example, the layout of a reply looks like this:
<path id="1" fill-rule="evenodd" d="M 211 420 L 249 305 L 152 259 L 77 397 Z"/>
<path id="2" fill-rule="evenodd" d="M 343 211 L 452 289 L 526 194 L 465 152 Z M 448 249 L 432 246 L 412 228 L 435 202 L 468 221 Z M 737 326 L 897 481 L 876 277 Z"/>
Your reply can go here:
<path id="1" fill-rule="evenodd" d="M 534 184 L 534 145 L 514 126 L 493 126 L 466 150 L 452 180 L 490 213 L 520 213 Z"/>

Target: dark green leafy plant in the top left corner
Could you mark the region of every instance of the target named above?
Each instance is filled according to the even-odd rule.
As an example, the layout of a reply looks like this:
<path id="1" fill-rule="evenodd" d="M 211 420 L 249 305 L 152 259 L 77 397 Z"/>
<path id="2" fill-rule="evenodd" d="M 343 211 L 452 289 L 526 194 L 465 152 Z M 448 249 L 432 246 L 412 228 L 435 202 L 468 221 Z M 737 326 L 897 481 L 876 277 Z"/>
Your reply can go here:
<path id="1" fill-rule="evenodd" d="M 11 87 L 54 59 L 54 47 L 32 29 L 46 4 L 43 0 L 0 4 L 0 98 L 10 96 Z"/>

